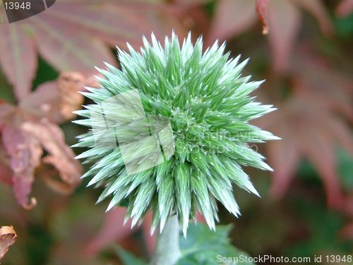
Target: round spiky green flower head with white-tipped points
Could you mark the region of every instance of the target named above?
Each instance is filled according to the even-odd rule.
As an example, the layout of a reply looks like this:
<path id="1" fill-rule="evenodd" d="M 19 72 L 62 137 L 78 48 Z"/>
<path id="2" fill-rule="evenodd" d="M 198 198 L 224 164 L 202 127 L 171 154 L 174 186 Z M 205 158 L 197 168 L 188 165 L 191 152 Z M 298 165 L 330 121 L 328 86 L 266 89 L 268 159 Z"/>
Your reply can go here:
<path id="1" fill-rule="evenodd" d="M 225 44 L 203 52 L 191 35 L 164 47 L 152 35 L 129 53 L 119 48 L 121 69 L 107 64 L 88 88 L 95 104 L 76 112 L 89 126 L 76 146 L 90 148 L 78 158 L 95 164 L 83 177 L 104 187 L 98 201 L 112 196 L 108 210 L 127 204 L 133 225 L 152 210 L 152 231 L 177 214 L 184 234 L 199 211 L 215 228 L 217 201 L 235 216 L 239 208 L 232 184 L 258 195 L 241 166 L 271 168 L 247 143 L 278 139 L 249 120 L 274 110 L 249 96 L 262 81 L 241 76 L 246 61 L 229 59 Z"/>

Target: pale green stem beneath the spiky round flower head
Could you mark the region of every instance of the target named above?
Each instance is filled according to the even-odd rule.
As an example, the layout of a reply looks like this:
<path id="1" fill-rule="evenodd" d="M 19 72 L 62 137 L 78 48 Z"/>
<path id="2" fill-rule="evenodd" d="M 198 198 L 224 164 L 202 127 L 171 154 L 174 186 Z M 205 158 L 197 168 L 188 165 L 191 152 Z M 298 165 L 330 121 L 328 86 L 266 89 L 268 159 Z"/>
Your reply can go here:
<path id="1" fill-rule="evenodd" d="M 163 231 L 157 235 L 157 244 L 150 265 L 174 265 L 181 257 L 179 249 L 179 221 L 170 216 Z"/>

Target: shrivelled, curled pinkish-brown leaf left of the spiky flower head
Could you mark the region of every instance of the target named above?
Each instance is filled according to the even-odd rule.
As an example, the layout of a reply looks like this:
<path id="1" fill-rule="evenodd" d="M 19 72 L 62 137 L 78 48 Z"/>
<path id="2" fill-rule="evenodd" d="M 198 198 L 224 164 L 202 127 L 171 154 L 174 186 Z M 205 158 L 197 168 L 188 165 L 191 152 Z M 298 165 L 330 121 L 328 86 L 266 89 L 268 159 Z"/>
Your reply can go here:
<path id="1" fill-rule="evenodd" d="M 36 204 L 34 198 L 28 202 L 28 196 L 35 169 L 41 163 L 50 170 L 54 167 L 54 174 L 40 175 L 57 192 L 68 194 L 80 181 L 82 168 L 56 124 L 74 117 L 71 112 L 83 103 L 78 91 L 86 82 L 81 73 L 65 72 L 57 81 L 30 93 L 18 106 L 0 103 L 0 180 L 13 186 L 16 199 L 24 208 Z M 49 155 L 42 159 L 43 149 Z"/>

